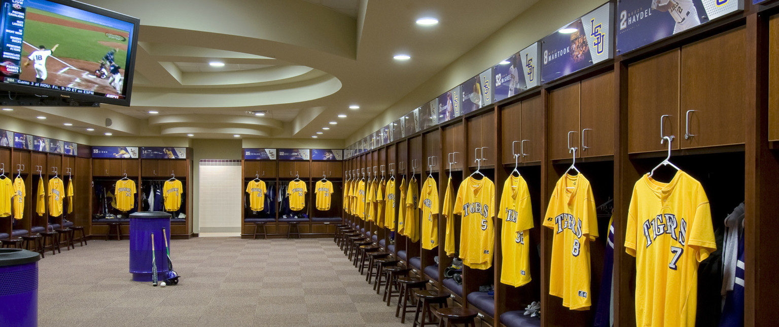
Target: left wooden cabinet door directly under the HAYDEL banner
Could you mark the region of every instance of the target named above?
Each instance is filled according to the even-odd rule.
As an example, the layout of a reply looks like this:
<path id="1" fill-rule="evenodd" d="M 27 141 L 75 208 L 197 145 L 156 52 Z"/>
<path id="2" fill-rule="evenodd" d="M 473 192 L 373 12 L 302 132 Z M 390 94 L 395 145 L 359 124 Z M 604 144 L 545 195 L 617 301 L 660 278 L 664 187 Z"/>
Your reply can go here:
<path id="1" fill-rule="evenodd" d="M 671 116 L 663 120 L 664 135 L 674 135 L 673 148 L 679 148 L 679 56 L 671 50 L 628 68 L 629 152 L 668 149 L 660 143 L 663 115 Z"/>

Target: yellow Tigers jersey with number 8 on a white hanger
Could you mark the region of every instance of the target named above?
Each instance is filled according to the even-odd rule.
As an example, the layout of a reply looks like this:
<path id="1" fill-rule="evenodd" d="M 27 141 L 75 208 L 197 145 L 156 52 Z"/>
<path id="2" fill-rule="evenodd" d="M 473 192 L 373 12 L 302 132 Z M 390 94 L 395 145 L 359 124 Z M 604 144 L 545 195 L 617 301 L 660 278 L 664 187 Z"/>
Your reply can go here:
<path id="1" fill-rule="evenodd" d="M 597 216 L 590 181 L 582 174 L 562 176 L 552 191 L 544 226 L 552 228 L 549 294 L 571 310 L 589 310 L 590 241 L 597 238 Z"/>

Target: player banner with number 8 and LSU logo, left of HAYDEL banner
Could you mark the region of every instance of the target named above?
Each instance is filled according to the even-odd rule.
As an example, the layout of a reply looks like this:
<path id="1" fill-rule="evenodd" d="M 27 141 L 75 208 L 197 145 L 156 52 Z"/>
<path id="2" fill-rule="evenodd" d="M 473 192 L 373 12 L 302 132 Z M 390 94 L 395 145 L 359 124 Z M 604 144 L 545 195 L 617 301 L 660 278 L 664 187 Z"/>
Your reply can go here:
<path id="1" fill-rule="evenodd" d="M 602 5 L 541 40 L 541 82 L 612 58 L 613 8 L 611 2 Z"/>

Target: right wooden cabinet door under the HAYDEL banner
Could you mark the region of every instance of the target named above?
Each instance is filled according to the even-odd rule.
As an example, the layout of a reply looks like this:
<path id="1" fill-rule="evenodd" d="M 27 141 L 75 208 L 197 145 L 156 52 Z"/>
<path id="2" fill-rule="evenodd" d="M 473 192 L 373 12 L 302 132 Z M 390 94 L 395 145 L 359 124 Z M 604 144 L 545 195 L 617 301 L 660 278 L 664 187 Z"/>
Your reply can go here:
<path id="1" fill-rule="evenodd" d="M 743 26 L 682 47 L 678 120 L 682 148 L 744 143 L 749 60 L 745 48 Z"/>

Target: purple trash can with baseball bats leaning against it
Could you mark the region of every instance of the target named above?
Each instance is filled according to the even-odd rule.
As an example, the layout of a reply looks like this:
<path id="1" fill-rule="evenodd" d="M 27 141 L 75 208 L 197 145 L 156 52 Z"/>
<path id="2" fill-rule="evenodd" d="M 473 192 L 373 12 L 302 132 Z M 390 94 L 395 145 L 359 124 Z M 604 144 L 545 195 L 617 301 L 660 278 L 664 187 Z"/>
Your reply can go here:
<path id="1" fill-rule="evenodd" d="M 171 244 L 171 214 L 162 211 L 146 211 L 130 214 L 130 273 L 136 282 L 151 281 L 151 235 L 154 234 L 154 254 L 157 263 L 157 280 L 164 280 L 167 273 L 165 242 Z"/>

